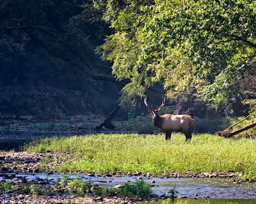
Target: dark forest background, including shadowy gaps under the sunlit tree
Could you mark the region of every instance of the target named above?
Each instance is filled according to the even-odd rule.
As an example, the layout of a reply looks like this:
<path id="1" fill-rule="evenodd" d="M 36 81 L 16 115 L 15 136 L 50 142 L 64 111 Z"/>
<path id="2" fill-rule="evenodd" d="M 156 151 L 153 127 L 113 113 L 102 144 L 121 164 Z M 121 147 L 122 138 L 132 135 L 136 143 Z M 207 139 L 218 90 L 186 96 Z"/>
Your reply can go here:
<path id="1" fill-rule="evenodd" d="M 108 115 L 118 105 L 120 96 L 125 94 L 125 84 L 127 87 L 132 79 L 119 77 L 116 81 L 111 75 L 112 62 L 102 61 L 95 49 L 118 29 L 129 34 L 133 31 L 125 27 L 128 25 L 122 27 L 115 22 L 115 27 L 113 20 L 106 20 L 106 10 L 111 4 L 108 1 L 98 3 L 100 9 L 93 8 L 91 1 L 82 0 L 0 1 L 0 120 L 3 124 L 17 121 L 85 122 L 97 119 L 97 115 Z M 126 1 L 111 3 L 116 5 L 111 8 L 116 13 L 128 8 Z M 135 8 L 151 3 L 138 1 Z M 141 15 L 139 9 L 132 8 L 132 11 Z M 118 18 L 116 13 L 112 13 L 115 19 Z M 104 14 L 105 20 L 102 18 Z M 120 18 L 120 24 L 125 18 Z M 255 64 L 250 66 L 255 69 Z M 244 87 L 252 82 L 255 80 L 244 82 Z M 246 96 L 237 94 L 235 99 L 214 108 L 196 98 L 191 89 L 186 90 L 168 102 L 172 112 L 202 118 L 214 114 L 238 117 L 250 112 L 249 105 L 243 100 L 255 98 L 254 92 L 250 96 L 248 93 Z M 123 91 L 122 95 L 120 91 Z M 161 104 L 161 94 L 165 92 L 161 81 L 148 86 L 145 91 L 153 105 Z M 127 103 L 134 100 L 140 103 L 129 109 Z M 127 119 L 128 113 L 139 115 L 147 110 L 141 103 L 141 95 L 130 99 L 123 97 L 121 102 L 124 108 L 125 103 L 128 107 L 118 115 L 121 119 Z"/>

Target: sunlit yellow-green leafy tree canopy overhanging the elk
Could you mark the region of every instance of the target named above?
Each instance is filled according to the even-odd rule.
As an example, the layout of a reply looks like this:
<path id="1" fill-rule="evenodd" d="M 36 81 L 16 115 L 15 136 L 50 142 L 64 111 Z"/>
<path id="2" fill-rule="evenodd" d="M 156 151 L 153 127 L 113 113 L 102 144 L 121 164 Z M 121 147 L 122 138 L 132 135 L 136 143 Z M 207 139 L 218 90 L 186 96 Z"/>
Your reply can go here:
<path id="1" fill-rule="evenodd" d="M 114 33 L 98 51 L 131 80 L 121 105 L 163 84 L 220 108 L 255 89 L 256 1 L 94 0 Z"/>

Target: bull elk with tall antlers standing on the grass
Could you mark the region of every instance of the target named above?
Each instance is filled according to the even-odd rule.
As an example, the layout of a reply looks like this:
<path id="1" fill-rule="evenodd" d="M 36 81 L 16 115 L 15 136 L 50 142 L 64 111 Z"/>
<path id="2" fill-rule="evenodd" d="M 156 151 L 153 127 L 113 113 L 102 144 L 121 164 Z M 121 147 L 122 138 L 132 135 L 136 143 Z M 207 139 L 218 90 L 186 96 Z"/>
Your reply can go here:
<path id="1" fill-rule="evenodd" d="M 158 115 L 161 108 L 164 106 L 165 98 L 163 96 L 163 102 L 156 110 L 150 108 L 147 104 L 147 96 L 144 98 L 144 103 L 148 108 L 148 112 L 152 113 L 152 120 L 155 127 L 161 129 L 165 133 L 165 139 L 170 140 L 172 132 L 182 132 L 186 136 L 186 141 L 190 140 L 192 135 L 190 128 L 193 125 L 195 119 L 190 115 L 172 115 L 164 114 Z"/>

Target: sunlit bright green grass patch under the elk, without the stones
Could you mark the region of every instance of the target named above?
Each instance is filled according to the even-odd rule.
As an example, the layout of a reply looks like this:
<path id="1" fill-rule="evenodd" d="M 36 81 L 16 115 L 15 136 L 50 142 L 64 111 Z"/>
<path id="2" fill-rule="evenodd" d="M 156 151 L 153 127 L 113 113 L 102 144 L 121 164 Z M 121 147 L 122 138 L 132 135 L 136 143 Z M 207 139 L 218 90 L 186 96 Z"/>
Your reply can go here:
<path id="1" fill-rule="evenodd" d="M 24 150 L 73 152 L 74 157 L 60 171 L 150 172 L 156 175 L 172 171 L 243 173 L 245 179 L 256 178 L 256 140 L 234 140 L 220 136 L 193 135 L 185 143 L 183 134 L 173 134 L 172 141 L 164 135 L 84 135 L 45 138 L 29 143 Z"/>

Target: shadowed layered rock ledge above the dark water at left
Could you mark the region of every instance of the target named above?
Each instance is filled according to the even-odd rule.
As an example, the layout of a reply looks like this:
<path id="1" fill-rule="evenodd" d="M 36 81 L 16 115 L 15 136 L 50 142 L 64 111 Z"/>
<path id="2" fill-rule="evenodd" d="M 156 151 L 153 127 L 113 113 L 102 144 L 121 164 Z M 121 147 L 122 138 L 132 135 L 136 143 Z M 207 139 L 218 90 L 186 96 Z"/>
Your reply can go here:
<path id="1" fill-rule="evenodd" d="M 95 115 L 106 115 L 117 103 L 118 90 L 111 89 L 111 85 L 107 87 L 97 92 L 52 87 L 0 87 L 0 122 L 86 122 L 92 117 L 95 119 Z"/>

